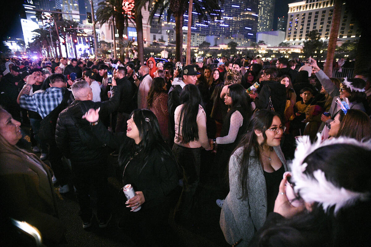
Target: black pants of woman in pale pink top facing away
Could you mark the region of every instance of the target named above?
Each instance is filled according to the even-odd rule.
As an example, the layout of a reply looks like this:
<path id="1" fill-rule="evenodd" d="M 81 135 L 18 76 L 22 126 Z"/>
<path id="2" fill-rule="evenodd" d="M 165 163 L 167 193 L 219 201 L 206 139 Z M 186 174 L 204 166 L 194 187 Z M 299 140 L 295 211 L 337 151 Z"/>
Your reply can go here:
<path id="1" fill-rule="evenodd" d="M 175 207 L 175 220 L 191 216 L 194 195 L 200 181 L 201 148 L 188 148 L 174 143 L 173 152 L 178 165 L 183 169 L 183 190 Z"/>

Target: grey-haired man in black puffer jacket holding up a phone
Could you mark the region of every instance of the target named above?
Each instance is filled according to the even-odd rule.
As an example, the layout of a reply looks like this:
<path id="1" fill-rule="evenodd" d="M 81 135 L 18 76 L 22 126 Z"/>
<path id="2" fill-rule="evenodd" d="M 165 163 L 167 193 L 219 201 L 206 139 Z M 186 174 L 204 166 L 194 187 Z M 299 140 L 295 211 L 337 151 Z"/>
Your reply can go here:
<path id="1" fill-rule="evenodd" d="M 120 95 L 115 79 L 112 80 L 112 86 L 110 100 L 93 102 L 92 90 L 86 81 L 73 83 L 71 89 L 76 100 L 59 114 L 56 125 L 57 146 L 63 155 L 71 160 L 73 183 L 76 188 L 83 228 L 88 228 L 92 224 L 93 213 L 89 199 L 91 185 L 97 194 L 99 227 L 106 227 L 112 217 L 107 198 L 106 154 L 108 150 L 94 137 L 90 123 L 82 119 L 82 116 L 91 108 L 100 107 L 99 115 L 110 114 L 117 110 Z"/>

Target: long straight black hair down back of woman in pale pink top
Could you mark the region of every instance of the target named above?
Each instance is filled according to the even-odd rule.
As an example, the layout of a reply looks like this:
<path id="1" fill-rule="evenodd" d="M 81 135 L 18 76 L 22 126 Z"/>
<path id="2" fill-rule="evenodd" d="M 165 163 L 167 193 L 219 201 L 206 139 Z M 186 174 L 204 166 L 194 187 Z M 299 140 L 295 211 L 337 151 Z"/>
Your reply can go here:
<path id="1" fill-rule="evenodd" d="M 193 84 L 187 84 L 180 93 L 180 100 L 183 107 L 180 111 L 178 131 L 182 126 L 182 143 L 198 141 L 197 114 L 198 105 L 201 104 L 200 91 Z"/>

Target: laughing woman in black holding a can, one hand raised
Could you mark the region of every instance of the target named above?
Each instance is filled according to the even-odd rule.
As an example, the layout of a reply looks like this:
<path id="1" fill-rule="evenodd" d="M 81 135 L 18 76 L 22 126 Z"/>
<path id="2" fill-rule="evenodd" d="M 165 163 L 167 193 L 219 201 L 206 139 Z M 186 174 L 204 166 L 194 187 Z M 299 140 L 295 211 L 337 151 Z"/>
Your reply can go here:
<path id="1" fill-rule="evenodd" d="M 90 109 L 84 117 L 98 140 L 112 148 L 121 146 L 118 160 L 122 184 L 131 184 L 136 191 L 126 202 L 127 210 L 122 210 L 124 217 L 119 226 L 129 225 L 133 241 L 142 246 L 163 245 L 178 176 L 175 157 L 161 136 L 157 118 L 150 110 L 134 110 L 125 137 L 123 133 L 109 132 L 99 121 L 98 112 Z M 138 207 L 139 211 L 132 212 Z"/>

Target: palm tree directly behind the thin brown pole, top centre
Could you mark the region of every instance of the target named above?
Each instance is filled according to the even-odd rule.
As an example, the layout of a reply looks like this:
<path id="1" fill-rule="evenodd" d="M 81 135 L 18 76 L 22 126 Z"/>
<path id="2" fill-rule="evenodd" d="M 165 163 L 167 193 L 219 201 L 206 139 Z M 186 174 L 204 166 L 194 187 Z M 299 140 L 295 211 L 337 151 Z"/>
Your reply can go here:
<path id="1" fill-rule="evenodd" d="M 147 2 L 147 0 L 138 0 L 141 2 Z M 214 16 L 212 14 L 217 13 L 220 10 L 220 4 L 224 3 L 224 0 L 209 0 L 200 1 L 193 0 L 193 9 L 198 14 L 198 21 L 203 21 L 210 17 L 214 19 L 217 17 L 220 19 L 220 15 Z M 142 3 L 145 6 L 145 3 Z M 175 60 L 181 61 L 182 50 L 183 50 L 183 14 L 188 10 L 189 4 L 188 0 L 150 0 L 150 19 L 152 21 L 154 15 L 159 13 L 162 16 L 165 11 L 167 12 L 167 21 L 170 21 L 170 17 L 173 16 L 175 19 Z M 159 19 L 160 21 L 160 19 Z"/>

